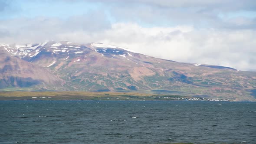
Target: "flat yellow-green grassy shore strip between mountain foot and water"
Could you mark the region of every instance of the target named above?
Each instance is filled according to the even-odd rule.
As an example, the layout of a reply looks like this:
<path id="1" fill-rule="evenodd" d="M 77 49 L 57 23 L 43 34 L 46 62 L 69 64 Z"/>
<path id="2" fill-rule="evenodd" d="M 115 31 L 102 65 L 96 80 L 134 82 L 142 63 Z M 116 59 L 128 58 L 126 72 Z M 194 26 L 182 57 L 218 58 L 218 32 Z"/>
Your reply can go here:
<path id="1" fill-rule="evenodd" d="M 175 100 L 180 95 L 154 95 L 135 92 L 0 92 L 0 100 Z"/>

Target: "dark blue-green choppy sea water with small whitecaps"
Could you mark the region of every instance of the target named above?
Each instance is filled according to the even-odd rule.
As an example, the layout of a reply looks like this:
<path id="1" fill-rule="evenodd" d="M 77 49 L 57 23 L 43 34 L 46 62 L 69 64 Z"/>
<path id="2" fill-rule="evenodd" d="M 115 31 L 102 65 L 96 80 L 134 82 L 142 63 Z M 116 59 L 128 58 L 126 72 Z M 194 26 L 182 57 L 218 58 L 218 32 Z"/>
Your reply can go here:
<path id="1" fill-rule="evenodd" d="M 0 101 L 0 144 L 178 142 L 256 144 L 256 102 Z"/>

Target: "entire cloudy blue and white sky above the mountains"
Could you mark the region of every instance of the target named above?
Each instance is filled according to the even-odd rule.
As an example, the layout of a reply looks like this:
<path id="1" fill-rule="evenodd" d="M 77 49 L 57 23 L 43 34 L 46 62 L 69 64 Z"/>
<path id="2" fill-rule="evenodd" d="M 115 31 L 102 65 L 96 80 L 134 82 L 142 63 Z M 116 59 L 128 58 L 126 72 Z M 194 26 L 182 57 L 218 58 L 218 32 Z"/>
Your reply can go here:
<path id="1" fill-rule="evenodd" d="M 256 71 L 256 1 L 0 0 L 0 43 L 46 40 Z"/>

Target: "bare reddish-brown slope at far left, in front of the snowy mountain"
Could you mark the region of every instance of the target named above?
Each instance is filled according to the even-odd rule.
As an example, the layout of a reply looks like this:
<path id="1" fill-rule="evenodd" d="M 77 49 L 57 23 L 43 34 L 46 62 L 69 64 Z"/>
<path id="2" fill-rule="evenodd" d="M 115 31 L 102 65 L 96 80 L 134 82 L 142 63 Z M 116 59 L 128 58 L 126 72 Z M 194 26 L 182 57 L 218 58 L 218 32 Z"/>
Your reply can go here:
<path id="1" fill-rule="evenodd" d="M 64 81 L 47 69 L 10 56 L 0 49 L 0 88 L 59 85 Z"/>

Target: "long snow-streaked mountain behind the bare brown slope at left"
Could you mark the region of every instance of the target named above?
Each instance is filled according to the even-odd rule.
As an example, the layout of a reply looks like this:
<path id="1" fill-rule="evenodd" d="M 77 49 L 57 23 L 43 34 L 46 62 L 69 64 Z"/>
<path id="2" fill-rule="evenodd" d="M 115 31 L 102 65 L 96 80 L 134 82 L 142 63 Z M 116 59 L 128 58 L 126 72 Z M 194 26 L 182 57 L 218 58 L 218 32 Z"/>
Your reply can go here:
<path id="1" fill-rule="evenodd" d="M 27 85 L 33 90 L 41 90 L 43 85 L 44 89 L 54 91 L 136 91 L 256 101 L 256 72 L 158 59 L 102 43 L 81 45 L 50 41 L 2 44 L 0 49 L 13 59 L 31 64 L 25 69 L 37 66 L 47 70 L 48 73 L 40 73 L 39 77 L 34 75 L 33 79 L 53 77 L 53 82 L 45 80 L 37 85 Z M 3 63 L 7 65 L 8 62 Z M 54 82 L 60 84 L 51 86 Z"/>

